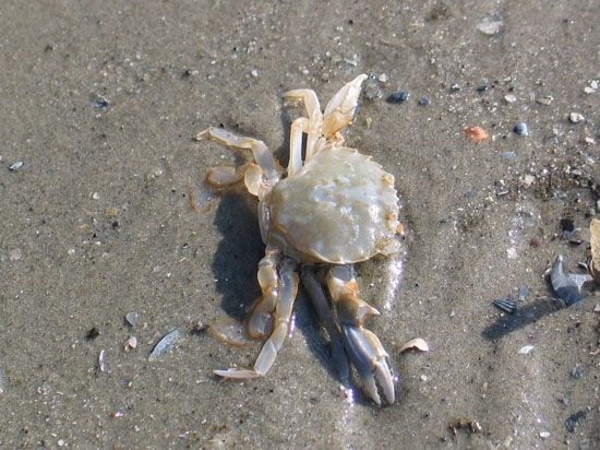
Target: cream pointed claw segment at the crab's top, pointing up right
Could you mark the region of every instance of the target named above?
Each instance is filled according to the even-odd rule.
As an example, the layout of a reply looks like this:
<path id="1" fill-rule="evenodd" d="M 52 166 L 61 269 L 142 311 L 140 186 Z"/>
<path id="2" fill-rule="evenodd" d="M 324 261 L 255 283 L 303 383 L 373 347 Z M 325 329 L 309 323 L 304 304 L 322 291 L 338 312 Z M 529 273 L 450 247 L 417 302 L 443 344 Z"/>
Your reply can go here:
<path id="1" fill-rule="evenodd" d="M 363 73 L 341 87 L 325 106 L 323 117 L 323 135 L 331 139 L 335 133 L 352 121 L 358 105 L 362 82 L 367 80 Z"/>

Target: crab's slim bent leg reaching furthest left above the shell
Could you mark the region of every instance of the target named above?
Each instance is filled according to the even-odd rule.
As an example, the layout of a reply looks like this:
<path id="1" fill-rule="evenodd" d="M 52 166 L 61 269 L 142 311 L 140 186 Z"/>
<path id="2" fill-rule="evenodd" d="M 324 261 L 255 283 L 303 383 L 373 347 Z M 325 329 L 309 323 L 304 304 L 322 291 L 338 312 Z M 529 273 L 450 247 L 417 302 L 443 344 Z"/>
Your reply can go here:
<path id="1" fill-rule="evenodd" d="M 252 138 L 240 138 L 217 127 L 211 127 L 201 131 L 195 135 L 195 139 L 199 141 L 203 139 L 216 141 L 233 150 L 250 150 L 252 151 L 254 162 L 263 169 L 267 179 L 272 182 L 279 179 L 281 167 L 263 141 Z M 219 175 L 220 170 L 219 168 Z"/>

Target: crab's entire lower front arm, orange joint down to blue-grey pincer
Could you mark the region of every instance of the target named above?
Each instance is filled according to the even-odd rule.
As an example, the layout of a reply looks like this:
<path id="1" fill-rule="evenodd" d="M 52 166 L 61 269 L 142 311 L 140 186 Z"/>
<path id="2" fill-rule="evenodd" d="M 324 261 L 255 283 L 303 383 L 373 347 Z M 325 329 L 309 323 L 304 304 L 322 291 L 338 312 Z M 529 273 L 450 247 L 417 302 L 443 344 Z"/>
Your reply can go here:
<path id="1" fill-rule="evenodd" d="M 327 273 L 326 282 L 341 328 L 346 352 L 357 368 L 364 391 L 376 404 L 381 404 L 376 384 L 379 382 L 387 403 L 394 403 L 396 395 L 389 355 L 377 336 L 362 327 L 370 316 L 380 312 L 358 298 L 358 284 L 351 267 L 333 267 Z"/>

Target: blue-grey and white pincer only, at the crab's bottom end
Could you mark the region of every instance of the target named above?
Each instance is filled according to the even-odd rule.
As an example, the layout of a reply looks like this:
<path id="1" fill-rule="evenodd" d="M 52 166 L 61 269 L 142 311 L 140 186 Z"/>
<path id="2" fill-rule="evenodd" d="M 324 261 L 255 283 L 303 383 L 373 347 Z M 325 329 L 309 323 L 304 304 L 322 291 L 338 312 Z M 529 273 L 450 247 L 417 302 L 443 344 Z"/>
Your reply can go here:
<path id="1" fill-rule="evenodd" d="M 377 382 L 388 404 L 394 403 L 394 371 L 389 355 L 371 331 L 347 323 L 341 324 L 346 351 L 357 368 L 364 391 L 381 405 Z"/>

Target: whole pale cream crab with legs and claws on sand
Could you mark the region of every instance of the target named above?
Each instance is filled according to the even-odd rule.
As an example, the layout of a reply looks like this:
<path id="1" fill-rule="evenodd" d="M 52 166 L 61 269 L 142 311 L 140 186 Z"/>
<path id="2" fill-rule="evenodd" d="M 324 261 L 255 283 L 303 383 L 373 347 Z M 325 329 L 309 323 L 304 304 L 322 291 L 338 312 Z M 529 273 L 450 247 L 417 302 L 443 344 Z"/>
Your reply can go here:
<path id="1" fill-rule="evenodd" d="M 382 403 L 380 390 L 388 404 L 394 403 L 396 376 L 389 355 L 364 327 L 367 319 L 380 312 L 359 297 L 353 264 L 399 251 L 398 194 L 394 177 L 369 156 L 345 146 L 340 134 L 353 119 L 367 78 L 361 74 L 344 85 L 324 111 L 311 90 L 284 94 L 286 99 L 303 102 L 308 116 L 291 123 L 287 169 L 263 141 L 217 127 L 195 137 L 252 152 L 252 162 L 238 168 L 214 167 L 206 181 L 220 189 L 243 179 L 259 199 L 266 246 L 257 271 L 262 296 L 243 325 L 219 322 L 212 327 L 213 335 L 230 344 L 263 341 L 260 354 L 250 369 L 219 369 L 215 375 L 247 380 L 267 374 L 290 333 L 301 280 L 329 334 L 340 376 L 347 377 L 349 359 L 362 389 L 376 404 Z"/>

